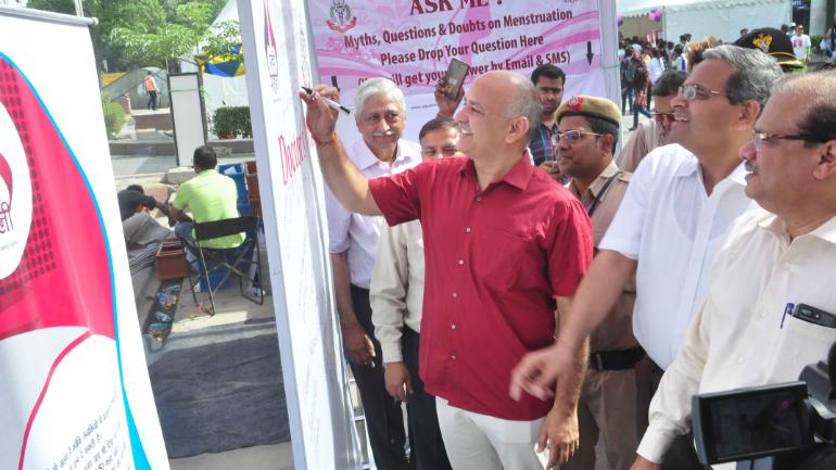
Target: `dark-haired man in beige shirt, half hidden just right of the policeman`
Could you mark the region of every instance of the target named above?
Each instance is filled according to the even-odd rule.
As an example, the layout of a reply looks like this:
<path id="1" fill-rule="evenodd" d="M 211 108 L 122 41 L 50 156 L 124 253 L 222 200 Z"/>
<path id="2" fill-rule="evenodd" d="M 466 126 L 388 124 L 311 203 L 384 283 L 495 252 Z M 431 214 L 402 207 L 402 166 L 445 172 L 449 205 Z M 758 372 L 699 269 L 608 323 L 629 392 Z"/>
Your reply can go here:
<path id="1" fill-rule="evenodd" d="M 651 150 L 669 143 L 668 134 L 674 120 L 671 100 L 676 97 L 686 78 L 688 78 L 687 72 L 667 71 L 654 84 L 653 96 L 656 103 L 654 118 L 639 124 L 638 128 L 630 135 L 619 155 L 619 168 L 633 173 L 642 158 Z"/>

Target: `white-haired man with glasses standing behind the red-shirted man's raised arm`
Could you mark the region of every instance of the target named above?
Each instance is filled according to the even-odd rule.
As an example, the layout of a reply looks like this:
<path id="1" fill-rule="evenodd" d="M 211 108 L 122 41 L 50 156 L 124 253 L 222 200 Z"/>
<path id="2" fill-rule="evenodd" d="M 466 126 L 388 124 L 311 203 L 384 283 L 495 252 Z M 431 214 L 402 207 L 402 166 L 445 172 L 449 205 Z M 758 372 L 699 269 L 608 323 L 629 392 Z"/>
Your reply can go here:
<path id="1" fill-rule="evenodd" d="M 405 109 L 404 93 L 389 79 L 369 78 L 357 88 L 354 117 L 362 139 L 345 153 L 367 178 L 389 176 L 421 162 L 420 148 L 401 139 Z M 369 305 L 383 220 L 346 211 L 330 191 L 326 208 L 343 347 L 357 380 L 375 462 L 379 468 L 405 470 L 403 415 L 400 403 L 387 393 Z"/>

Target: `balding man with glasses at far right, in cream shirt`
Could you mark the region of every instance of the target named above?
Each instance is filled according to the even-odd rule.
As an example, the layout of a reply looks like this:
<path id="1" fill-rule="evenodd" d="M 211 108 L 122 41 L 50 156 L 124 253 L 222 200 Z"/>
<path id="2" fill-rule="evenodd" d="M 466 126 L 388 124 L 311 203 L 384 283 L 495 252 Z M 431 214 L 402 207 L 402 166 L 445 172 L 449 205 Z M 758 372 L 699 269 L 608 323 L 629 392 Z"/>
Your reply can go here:
<path id="1" fill-rule="evenodd" d="M 833 72 L 783 77 L 740 149 L 746 194 L 763 209 L 740 216 L 717 254 L 634 469 L 658 468 L 673 436 L 687 432 L 693 395 L 794 381 L 827 356 L 836 330 L 793 312 L 806 304 L 836 314 L 836 293 L 822 285 L 836 266 L 834 97 Z"/>

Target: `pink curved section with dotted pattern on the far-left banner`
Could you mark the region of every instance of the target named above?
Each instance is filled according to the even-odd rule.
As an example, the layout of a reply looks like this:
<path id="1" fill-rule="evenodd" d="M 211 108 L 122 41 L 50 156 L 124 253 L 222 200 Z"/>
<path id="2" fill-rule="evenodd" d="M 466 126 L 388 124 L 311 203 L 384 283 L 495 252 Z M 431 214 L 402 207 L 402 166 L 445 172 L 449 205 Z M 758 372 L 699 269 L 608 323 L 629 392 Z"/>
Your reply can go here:
<path id="1" fill-rule="evenodd" d="M 0 56 L 0 340 L 52 327 L 114 338 L 94 200 L 37 93 Z"/>

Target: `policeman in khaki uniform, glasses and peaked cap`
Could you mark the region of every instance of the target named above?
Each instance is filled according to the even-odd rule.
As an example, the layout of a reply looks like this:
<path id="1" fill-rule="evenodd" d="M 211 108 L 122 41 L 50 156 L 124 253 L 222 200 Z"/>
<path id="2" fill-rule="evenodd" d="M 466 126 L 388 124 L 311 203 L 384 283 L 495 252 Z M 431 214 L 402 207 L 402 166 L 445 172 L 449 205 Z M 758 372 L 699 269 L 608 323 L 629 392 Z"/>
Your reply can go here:
<path id="1" fill-rule="evenodd" d="M 592 219 L 595 252 L 624 198 L 631 174 L 612 160 L 621 113 L 616 103 L 597 97 L 572 97 L 557 111 L 557 164 L 572 178 L 567 185 Z M 594 469 L 595 445 L 604 439 L 609 468 L 628 470 L 638 439 L 636 376 L 633 366 L 645 352 L 633 336 L 635 285 L 630 282 L 590 336 L 588 367 L 578 404 L 581 436 L 575 455 L 561 469 Z"/>

